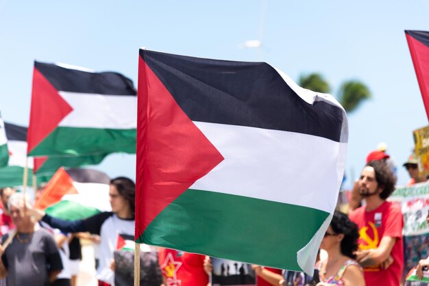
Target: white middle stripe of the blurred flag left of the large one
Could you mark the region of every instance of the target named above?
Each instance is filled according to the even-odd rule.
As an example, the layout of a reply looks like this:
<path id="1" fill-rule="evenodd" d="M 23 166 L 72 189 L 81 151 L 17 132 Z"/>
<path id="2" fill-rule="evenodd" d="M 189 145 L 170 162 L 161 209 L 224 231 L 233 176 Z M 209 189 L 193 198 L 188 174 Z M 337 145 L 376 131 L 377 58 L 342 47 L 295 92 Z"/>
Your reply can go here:
<path id="1" fill-rule="evenodd" d="M 59 124 L 61 127 L 99 129 L 135 129 L 137 96 L 58 92 L 73 111 Z"/>

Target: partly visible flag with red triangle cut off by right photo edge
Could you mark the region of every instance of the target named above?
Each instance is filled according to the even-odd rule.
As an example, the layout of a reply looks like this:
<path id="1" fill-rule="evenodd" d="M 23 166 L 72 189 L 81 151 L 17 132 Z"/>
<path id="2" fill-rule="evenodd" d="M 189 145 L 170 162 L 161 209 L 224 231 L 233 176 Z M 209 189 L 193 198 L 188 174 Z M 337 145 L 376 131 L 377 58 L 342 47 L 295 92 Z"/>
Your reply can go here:
<path id="1" fill-rule="evenodd" d="M 405 31 L 426 116 L 429 119 L 429 31 Z"/>

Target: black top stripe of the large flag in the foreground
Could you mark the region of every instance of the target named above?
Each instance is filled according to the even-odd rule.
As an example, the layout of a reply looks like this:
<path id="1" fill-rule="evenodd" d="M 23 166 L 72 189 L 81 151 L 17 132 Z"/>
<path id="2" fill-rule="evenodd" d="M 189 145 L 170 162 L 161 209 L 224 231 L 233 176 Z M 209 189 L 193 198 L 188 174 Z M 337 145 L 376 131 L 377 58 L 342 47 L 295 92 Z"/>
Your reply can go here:
<path id="1" fill-rule="evenodd" d="M 265 62 L 232 62 L 140 50 L 193 121 L 291 131 L 340 142 L 343 110 L 302 100 Z"/>

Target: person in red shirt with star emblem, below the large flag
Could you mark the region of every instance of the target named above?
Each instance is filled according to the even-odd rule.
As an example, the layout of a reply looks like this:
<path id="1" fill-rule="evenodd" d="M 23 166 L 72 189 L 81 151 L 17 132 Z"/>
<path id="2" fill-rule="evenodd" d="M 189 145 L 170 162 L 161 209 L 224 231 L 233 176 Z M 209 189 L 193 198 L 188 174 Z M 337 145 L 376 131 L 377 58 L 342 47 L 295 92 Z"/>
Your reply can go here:
<path id="1" fill-rule="evenodd" d="M 204 270 L 204 255 L 160 248 L 160 264 L 164 286 L 207 286 L 208 274 Z"/>

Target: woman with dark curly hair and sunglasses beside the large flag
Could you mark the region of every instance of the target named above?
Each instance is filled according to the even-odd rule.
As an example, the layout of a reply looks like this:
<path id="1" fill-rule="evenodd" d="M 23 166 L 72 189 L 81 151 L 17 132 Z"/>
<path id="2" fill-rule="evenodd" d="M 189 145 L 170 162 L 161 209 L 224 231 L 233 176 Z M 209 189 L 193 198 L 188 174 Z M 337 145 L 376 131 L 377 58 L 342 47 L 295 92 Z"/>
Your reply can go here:
<path id="1" fill-rule="evenodd" d="M 358 249 L 358 227 L 344 213 L 335 211 L 320 248 L 328 252 L 328 259 L 319 261 L 320 281 L 317 286 L 363 286 L 362 268 L 354 260 Z"/>

